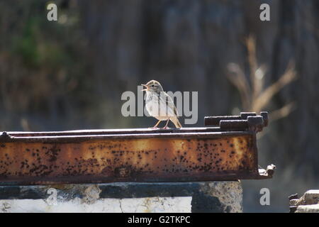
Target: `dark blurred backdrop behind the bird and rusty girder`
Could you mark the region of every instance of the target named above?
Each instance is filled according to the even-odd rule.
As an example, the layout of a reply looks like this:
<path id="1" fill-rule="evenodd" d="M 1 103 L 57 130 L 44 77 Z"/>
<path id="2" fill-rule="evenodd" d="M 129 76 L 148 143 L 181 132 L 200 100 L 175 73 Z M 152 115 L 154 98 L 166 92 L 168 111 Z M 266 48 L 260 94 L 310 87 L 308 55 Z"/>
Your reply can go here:
<path id="1" fill-rule="evenodd" d="M 259 165 L 277 170 L 242 181 L 245 212 L 288 212 L 290 194 L 319 189 L 318 0 L 50 2 L 0 0 L 0 131 L 150 127 L 121 115 L 121 94 L 157 79 L 198 92 L 194 126 L 271 114 Z M 263 3 L 271 21 L 259 20 Z"/>

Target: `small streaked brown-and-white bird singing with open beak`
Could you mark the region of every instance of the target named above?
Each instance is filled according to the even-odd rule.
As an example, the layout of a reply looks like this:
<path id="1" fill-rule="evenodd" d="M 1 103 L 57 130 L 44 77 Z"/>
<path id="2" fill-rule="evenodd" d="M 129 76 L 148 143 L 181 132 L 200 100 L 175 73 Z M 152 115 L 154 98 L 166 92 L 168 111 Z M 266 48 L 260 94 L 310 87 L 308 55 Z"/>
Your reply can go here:
<path id="1" fill-rule="evenodd" d="M 159 120 L 152 129 L 157 128 L 159 122 L 166 120 L 164 129 L 168 128 L 169 120 L 174 123 L 176 128 L 181 128 L 174 101 L 171 96 L 164 92 L 162 85 L 154 79 L 141 85 L 145 87 L 142 91 L 146 92 L 145 106 L 148 114 Z"/>

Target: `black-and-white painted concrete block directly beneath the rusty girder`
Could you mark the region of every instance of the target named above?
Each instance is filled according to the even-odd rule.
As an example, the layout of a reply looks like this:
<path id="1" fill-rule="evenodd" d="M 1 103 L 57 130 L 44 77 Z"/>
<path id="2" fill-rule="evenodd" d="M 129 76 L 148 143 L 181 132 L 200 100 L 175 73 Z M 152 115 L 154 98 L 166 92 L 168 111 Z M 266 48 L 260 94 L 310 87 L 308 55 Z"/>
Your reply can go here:
<path id="1" fill-rule="evenodd" d="M 0 186 L 1 212 L 242 212 L 240 182 Z"/>

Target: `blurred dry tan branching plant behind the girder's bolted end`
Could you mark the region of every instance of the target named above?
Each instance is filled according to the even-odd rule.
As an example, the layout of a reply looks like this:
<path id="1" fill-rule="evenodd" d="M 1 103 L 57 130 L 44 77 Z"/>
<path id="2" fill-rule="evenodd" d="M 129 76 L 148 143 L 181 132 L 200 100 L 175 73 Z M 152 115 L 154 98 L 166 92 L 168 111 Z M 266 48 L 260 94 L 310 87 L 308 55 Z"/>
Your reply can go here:
<path id="1" fill-rule="evenodd" d="M 245 44 L 247 46 L 250 75 L 246 76 L 244 70 L 238 64 L 230 63 L 228 64 L 230 73 L 227 74 L 227 77 L 240 93 L 242 111 L 259 113 L 260 111 L 267 110 L 267 106 L 269 106 L 274 95 L 297 78 L 296 70 L 293 62 L 290 62 L 284 74 L 276 82 L 267 86 L 265 83 L 267 67 L 266 65 L 258 65 L 255 38 L 250 35 Z M 295 102 L 291 101 L 281 108 L 271 111 L 269 114 L 270 121 L 284 118 L 295 108 Z"/>

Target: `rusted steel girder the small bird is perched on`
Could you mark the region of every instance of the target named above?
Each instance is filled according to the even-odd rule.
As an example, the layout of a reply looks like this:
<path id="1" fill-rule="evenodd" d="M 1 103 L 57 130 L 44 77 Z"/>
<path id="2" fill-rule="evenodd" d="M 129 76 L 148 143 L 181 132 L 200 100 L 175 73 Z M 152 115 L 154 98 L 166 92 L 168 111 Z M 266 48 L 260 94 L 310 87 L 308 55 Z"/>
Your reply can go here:
<path id="1" fill-rule="evenodd" d="M 169 130 L 3 132 L 0 184 L 272 177 L 272 166 L 269 170 L 258 168 L 255 135 L 260 122 L 247 120 L 240 127 L 235 123 L 231 130 L 225 121 L 220 121 L 219 127 Z M 227 127 L 223 128 L 223 123 Z"/>

